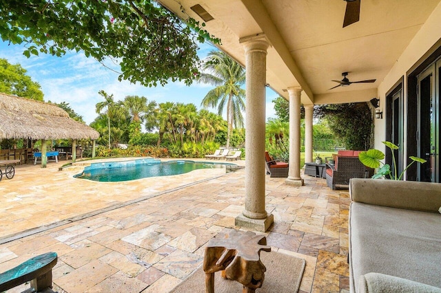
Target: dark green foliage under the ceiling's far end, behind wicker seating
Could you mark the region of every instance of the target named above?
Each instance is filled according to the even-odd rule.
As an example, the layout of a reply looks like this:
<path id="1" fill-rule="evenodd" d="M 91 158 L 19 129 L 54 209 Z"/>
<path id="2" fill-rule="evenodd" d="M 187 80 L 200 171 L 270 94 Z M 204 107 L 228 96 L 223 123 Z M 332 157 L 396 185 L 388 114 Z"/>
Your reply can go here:
<path id="1" fill-rule="evenodd" d="M 346 149 L 365 150 L 371 147 L 373 121 L 366 102 L 322 105 L 316 107 L 320 118 L 326 118 L 329 128 Z"/>

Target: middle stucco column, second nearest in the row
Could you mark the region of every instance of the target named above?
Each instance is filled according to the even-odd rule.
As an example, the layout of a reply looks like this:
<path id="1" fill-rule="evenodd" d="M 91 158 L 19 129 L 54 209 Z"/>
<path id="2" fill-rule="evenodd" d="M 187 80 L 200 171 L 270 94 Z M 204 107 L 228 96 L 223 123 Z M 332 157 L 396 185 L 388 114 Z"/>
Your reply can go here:
<path id="1" fill-rule="evenodd" d="M 301 87 L 289 87 L 289 171 L 285 182 L 302 186 L 300 177 L 300 94 Z"/>

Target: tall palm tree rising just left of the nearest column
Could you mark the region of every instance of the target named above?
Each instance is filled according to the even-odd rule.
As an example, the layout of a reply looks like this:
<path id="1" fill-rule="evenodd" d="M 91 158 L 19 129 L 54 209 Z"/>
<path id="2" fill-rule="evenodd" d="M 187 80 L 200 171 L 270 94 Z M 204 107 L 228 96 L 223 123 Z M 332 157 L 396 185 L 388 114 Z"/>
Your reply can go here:
<path id="1" fill-rule="evenodd" d="M 202 83 L 216 86 L 210 90 L 201 105 L 203 107 L 218 107 L 218 115 L 222 116 L 227 107 L 227 147 L 234 127 L 243 127 L 242 111 L 245 111 L 245 69 L 227 54 L 220 51 L 209 53 L 203 64 L 203 73 L 199 78 Z"/>

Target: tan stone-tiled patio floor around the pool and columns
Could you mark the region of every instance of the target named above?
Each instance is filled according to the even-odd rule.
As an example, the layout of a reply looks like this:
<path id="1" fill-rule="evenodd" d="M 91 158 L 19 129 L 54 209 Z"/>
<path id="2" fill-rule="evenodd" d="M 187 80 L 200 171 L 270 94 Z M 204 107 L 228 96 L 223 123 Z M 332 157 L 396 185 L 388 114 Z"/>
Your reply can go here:
<path id="1" fill-rule="evenodd" d="M 54 291 L 168 292 L 201 265 L 209 239 L 243 230 L 234 226 L 243 169 L 104 183 L 72 177 L 81 166 L 58 171 L 62 164 L 17 166 L 12 180 L 1 180 L 0 272 L 54 251 Z M 349 292 L 349 193 L 304 179 L 294 187 L 266 176 L 275 222 L 260 234 L 273 251 L 306 259 L 300 292 Z"/>

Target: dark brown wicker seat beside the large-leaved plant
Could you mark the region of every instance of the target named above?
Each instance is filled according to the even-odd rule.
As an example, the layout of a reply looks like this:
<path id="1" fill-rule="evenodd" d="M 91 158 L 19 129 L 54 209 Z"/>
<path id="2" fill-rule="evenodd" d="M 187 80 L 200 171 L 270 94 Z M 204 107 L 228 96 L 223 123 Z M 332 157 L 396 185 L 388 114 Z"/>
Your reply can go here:
<path id="1" fill-rule="evenodd" d="M 369 178 L 373 169 L 367 168 L 358 159 L 358 153 L 353 156 L 336 157 L 336 164 L 326 164 L 326 183 L 333 191 L 336 185 L 349 185 L 351 178 Z"/>

